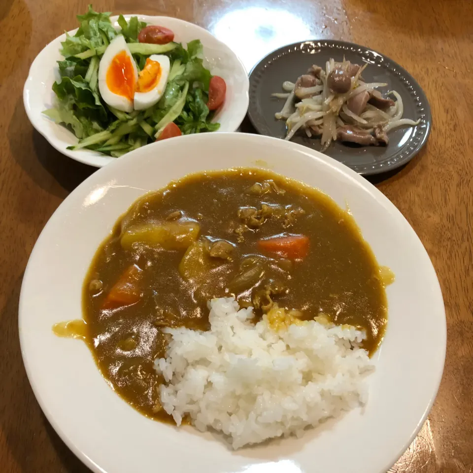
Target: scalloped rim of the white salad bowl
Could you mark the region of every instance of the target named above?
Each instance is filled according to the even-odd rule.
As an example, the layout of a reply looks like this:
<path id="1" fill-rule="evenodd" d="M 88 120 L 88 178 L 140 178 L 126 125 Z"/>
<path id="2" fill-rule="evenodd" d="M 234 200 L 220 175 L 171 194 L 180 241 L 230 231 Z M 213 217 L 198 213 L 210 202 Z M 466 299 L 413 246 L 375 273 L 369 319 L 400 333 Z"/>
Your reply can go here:
<path id="1" fill-rule="evenodd" d="M 239 120 L 236 118 L 236 122 L 238 124 L 234 127 L 235 129 L 233 130 L 233 132 L 236 132 L 236 130 L 241 125 L 241 123 L 244 120 L 244 118 L 246 116 L 246 113 L 248 111 L 249 100 L 250 100 L 250 98 L 249 98 L 250 83 L 249 83 L 248 71 L 246 70 L 246 68 L 245 68 L 243 62 L 241 61 L 241 59 L 236 55 L 235 51 L 233 49 L 231 49 L 223 41 L 218 39 L 214 34 L 210 33 L 210 31 L 208 31 L 205 28 L 197 25 L 196 23 L 192 23 L 192 22 L 189 22 L 189 21 L 186 21 L 186 20 L 182 20 L 180 18 L 176 18 L 176 17 L 173 17 L 173 16 L 166 16 L 166 15 L 144 15 L 144 14 L 139 14 L 139 13 L 136 13 L 136 14 L 127 13 L 127 14 L 124 14 L 123 16 L 127 20 L 129 20 L 133 16 L 137 16 L 140 20 L 147 21 L 148 23 L 151 23 L 151 24 L 156 24 L 156 23 L 153 23 L 153 22 L 158 22 L 158 21 L 161 21 L 161 20 L 168 21 L 169 19 L 171 19 L 171 21 L 176 21 L 177 23 L 180 23 L 184 28 L 189 28 L 189 26 L 190 26 L 192 28 L 198 29 L 202 35 L 212 37 L 213 40 L 215 40 L 221 47 L 223 47 L 227 52 L 229 52 L 229 53 L 231 53 L 231 55 L 233 55 L 233 58 L 235 60 L 235 64 L 238 64 L 239 67 L 241 68 L 241 72 L 244 72 L 244 74 L 243 73 L 241 74 L 241 79 L 243 79 L 243 81 L 245 83 L 244 84 L 244 86 L 245 86 L 244 87 L 244 101 L 245 101 L 244 105 L 246 105 L 245 107 L 242 107 L 242 109 L 244 109 L 245 112 L 241 113 L 241 118 Z M 110 16 L 110 21 L 112 22 L 112 24 L 115 24 L 118 21 L 118 17 L 119 17 L 119 15 L 111 15 Z M 116 29 L 116 25 L 114 25 L 114 28 Z M 77 30 L 78 30 L 78 28 L 74 28 L 72 30 L 69 30 L 67 33 L 68 34 L 74 34 Z M 27 78 L 26 78 L 25 83 L 23 85 L 23 93 L 22 93 L 23 106 L 25 108 L 25 111 L 26 111 L 26 114 L 28 116 L 28 119 L 29 119 L 30 123 L 33 125 L 33 128 L 41 136 L 43 136 L 46 139 L 46 141 L 54 149 L 59 151 L 62 155 L 67 156 L 68 158 L 71 158 L 74 161 L 77 161 L 79 163 L 86 164 L 88 166 L 92 166 L 92 167 L 95 167 L 95 168 L 102 168 L 102 167 L 106 166 L 107 164 L 113 163 L 118 158 L 112 158 L 110 156 L 95 153 L 93 150 L 80 149 L 80 150 L 72 151 L 72 150 L 68 150 L 67 148 L 63 148 L 62 145 L 60 145 L 57 142 L 56 139 L 50 139 L 49 134 L 43 133 L 43 130 L 41 129 L 41 126 L 39 124 L 38 117 L 36 116 L 37 114 L 33 110 L 31 110 L 30 107 L 28 106 L 28 101 L 29 101 L 28 94 L 31 93 L 31 91 L 32 91 L 32 88 L 30 86 L 30 82 L 33 81 L 32 71 L 34 70 L 34 67 L 36 67 L 38 64 L 39 65 L 42 64 L 40 62 L 40 56 L 43 53 L 45 53 L 45 51 L 47 49 L 51 48 L 52 44 L 54 42 L 56 42 L 60 39 L 62 40 L 65 37 L 66 37 L 66 33 L 60 34 L 59 36 L 55 37 L 54 39 L 49 41 L 37 53 L 37 55 L 34 57 L 34 60 L 32 61 L 31 65 L 30 65 L 30 68 L 28 69 L 28 75 L 27 75 Z M 244 79 L 244 77 L 246 78 L 246 80 Z M 39 115 L 40 114 L 41 114 L 41 112 L 39 112 Z M 41 118 L 41 117 L 39 116 L 39 118 Z M 57 124 L 57 125 L 61 126 L 59 124 Z M 70 131 L 69 131 L 69 133 L 72 134 L 72 132 L 70 132 Z M 211 133 L 214 133 L 214 132 L 211 132 Z M 220 132 L 220 131 L 217 130 L 215 133 L 229 133 L 229 132 L 228 131 Z"/>

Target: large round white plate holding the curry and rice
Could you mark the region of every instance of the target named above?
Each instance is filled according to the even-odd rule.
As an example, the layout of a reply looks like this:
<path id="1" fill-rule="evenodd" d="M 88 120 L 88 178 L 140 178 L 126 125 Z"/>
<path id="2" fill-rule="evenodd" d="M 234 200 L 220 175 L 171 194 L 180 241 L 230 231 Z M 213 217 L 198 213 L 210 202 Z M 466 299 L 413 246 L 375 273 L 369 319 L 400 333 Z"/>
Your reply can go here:
<path id="1" fill-rule="evenodd" d="M 378 263 L 396 275 L 386 289 L 388 326 L 374 355 L 366 408 L 308 430 L 301 439 L 275 439 L 237 451 L 218 436 L 139 414 L 110 389 L 83 342 L 51 331 L 56 322 L 81 317 L 81 287 L 92 257 L 131 203 L 190 172 L 234 167 L 271 169 L 348 205 Z M 19 332 L 26 371 L 46 417 L 89 468 L 106 473 L 385 473 L 434 402 L 446 345 L 435 270 L 399 210 L 328 156 L 244 134 L 153 143 L 77 187 L 34 246 L 21 289 Z"/>

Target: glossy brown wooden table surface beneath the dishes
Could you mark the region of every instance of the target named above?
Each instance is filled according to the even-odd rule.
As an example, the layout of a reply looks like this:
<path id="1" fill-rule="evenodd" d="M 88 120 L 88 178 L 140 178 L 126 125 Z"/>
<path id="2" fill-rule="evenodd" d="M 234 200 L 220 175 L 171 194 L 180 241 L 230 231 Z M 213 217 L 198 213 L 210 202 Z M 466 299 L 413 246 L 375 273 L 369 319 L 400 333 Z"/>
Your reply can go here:
<path id="1" fill-rule="evenodd" d="M 88 0 L 0 0 L 0 471 L 87 472 L 43 416 L 23 367 L 17 313 L 28 257 L 57 206 L 94 169 L 33 130 L 22 89 L 36 54 Z M 473 471 L 473 1 L 97 0 L 96 10 L 169 15 L 232 47 L 249 70 L 284 44 L 353 41 L 404 66 L 425 90 L 433 130 L 404 169 L 373 182 L 424 243 L 448 324 L 437 401 L 396 473 Z M 402 386 L 399 387 L 402 389 Z M 330 473 L 330 472 L 327 472 Z M 348 472 L 349 473 L 349 472 Z"/>

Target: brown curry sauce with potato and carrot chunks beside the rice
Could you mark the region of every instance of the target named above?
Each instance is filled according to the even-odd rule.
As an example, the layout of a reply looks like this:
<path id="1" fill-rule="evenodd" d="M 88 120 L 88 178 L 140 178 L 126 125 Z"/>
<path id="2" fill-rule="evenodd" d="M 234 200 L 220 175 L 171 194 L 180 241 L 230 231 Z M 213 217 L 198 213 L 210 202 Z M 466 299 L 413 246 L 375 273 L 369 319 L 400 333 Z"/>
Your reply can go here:
<path id="1" fill-rule="evenodd" d="M 235 295 L 256 317 L 278 304 L 362 327 L 372 353 L 386 326 L 382 274 L 353 218 L 319 191 L 261 169 L 189 175 L 138 200 L 98 249 L 85 338 L 119 395 L 169 420 L 153 369 L 163 327 L 206 330 L 207 301 Z"/>

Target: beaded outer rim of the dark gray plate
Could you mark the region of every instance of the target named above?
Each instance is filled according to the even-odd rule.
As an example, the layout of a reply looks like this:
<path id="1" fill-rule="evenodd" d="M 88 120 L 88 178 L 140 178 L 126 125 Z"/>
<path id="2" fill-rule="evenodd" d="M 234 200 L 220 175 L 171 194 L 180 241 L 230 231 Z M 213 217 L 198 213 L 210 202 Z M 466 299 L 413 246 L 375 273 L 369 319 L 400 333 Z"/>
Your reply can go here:
<path id="1" fill-rule="evenodd" d="M 409 161 L 411 161 L 421 151 L 421 149 L 426 145 L 426 143 L 429 139 L 430 133 L 432 131 L 432 120 L 433 120 L 433 118 L 432 118 L 432 109 L 431 109 L 431 106 L 430 106 L 429 99 L 427 97 L 427 94 L 425 93 L 425 90 L 420 86 L 418 81 L 412 76 L 412 74 L 407 69 L 405 69 L 399 63 L 397 63 L 396 61 L 391 59 L 389 56 L 386 56 L 385 54 L 380 53 L 379 51 L 377 51 L 373 48 L 370 48 L 368 46 L 363 46 L 363 45 L 358 44 L 358 43 L 353 43 L 351 41 L 344 41 L 342 39 L 324 39 L 324 38 L 306 39 L 306 40 L 303 40 L 303 41 L 296 41 L 294 43 L 286 44 L 284 46 L 278 47 L 278 48 L 272 50 L 271 52 L 269 52 L 264 58 L 262 58 L 260 61 L 258 61 L 258 63 L 256 63 L 251 68 L 251 70 L 248 73 L 248 77 L 249 77 L 249 81 L 250 81 L 249 93 L 251 93 L 252 75 L 254 74 L 255 70 L 260 65 L 262 65 L 263 63 L 268 63 L 268 60 L 270 59 L 270 57 L 273 56 L 274 54 L 278 53 L 278 52 L 286 51 L 287 49 L 289 49 L 291 47 L 302 46 L 303 44 L 306 44 L 306 43 L 325 43 L 325 45 L 321 45 L 320 48 L 330 47 L 330 46 L 328 46 L 329 43 L 332 44 L 335 47 L 337 45 L 344 45 L 344 46 L 348 46 L 350 48 L 361 49 L 362 54 L 364 54 L 366 52 L 374 53 L 377 56 L 381 56 L 384 61 L 390 62 L 392 64 L 392 66 L 394 68 L 396 68 L 397 70 L 401 70 L 401 72 L 402 72 L 401 75 L 404 76 L 409 82 L 411 82 L 414 85 L 414 87 L 417 87 L 421 91 L 421 93 L 425 97 L 425 101 L 423 102 L 424 114 L 425 114 L 425 133 L 423 134 L 420 142 L 417 144 L 417 146 L 414 148 L 414 150 L 411 151 L 405 159 L 397 161 L 396 163 L 388 166 L 386 169 L 376 168 L 376 169 L 366 169 L 366 170 L 357 171 L 356 169 L 352 168 L 351 166 L 348 166 L 347 164 L 345 164 L 345 166 L 347 166 L 348 168 L 350 168 L 352 170 L 355 170 L 355 172 L 357 172 L 358 174 L 360 174 L 362 176 L 369 176 L 369 175 L 382 174 L 382 173 L 389 172 L 389 171 L 392 171 L 392 170 L 395 170 L 395 169 L 399 169 L 402 166 L 405 166 Z M 353 51 L 353 52 L 356 53 L 357 51 Z M 253 77 L 253 80 L 254 80 L 254 77 Z M 260 132 L 260 130 L 258 128 L 258 125 L 256 124 L 255 118 L 254 118 L 253 114 L 251 113 L 251 103 L 248 104 L 247 117 L 248 117 L 249 121 L 251 122 L 251 125 L 253 126 L 253 128 L 256 130 L 256 132 L 258 134 L 278 138 L 277 136 L 265 135 L 265 134 Z M 283 138 L 278 138 L 278 139 L 283 139 Z M 298 144 L 300 144 L 300 143 L 298 143 Z M 302 146 L 304 146 L 304 145 L 302 145 Z M 308 146 L 305 146 L 305 147 L 308 147 Z M 309 149 L 313 149 L 313 148 L 309 148 Z M 314 150 L 314 151 L 318 151 L 318 150 Z"/>

